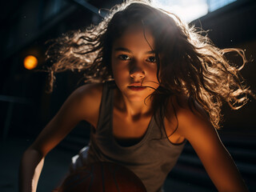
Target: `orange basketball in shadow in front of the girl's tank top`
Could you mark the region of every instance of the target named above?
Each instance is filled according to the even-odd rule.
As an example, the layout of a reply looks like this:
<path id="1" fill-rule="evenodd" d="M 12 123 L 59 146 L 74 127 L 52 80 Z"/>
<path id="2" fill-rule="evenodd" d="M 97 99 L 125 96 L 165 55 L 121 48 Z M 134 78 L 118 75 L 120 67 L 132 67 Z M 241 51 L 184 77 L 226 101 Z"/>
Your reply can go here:
<path id="1" fill-rule="evenodd" d="M 111 162 L 96 162 L 70 174 L 59 192 L 146 192 L 131 170 Z"/>

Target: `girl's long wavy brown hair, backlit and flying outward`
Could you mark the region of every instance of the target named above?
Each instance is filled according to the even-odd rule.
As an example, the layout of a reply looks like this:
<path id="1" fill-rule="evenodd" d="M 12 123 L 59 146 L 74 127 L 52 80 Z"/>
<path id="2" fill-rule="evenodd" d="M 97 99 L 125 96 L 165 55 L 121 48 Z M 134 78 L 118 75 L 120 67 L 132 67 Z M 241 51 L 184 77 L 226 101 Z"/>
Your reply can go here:
<path id="1" fill-rule="evenodd" d="M 196 101 L 206 110 L 218 129 L 223 101 L 238 109 L 246 104 L 249 94 L 254 97 L 239 74 L 246 63 L 243 50 L 218 49 L 202 31 L 189 27 L 176 15 L 136 0 L 114 6 L 98 26 L 64 34 L 52 42 L 46 52 L 47 58 L 54 60 L 49 68 L 50 89 L 54 73 L 64 70 L 84 73 L 86 82 L 113 80 L 112 44 L 134 22 L 141 22 L 154 36 L 160 82 L 154 94 L 165 98 L 161 99 L 162 106 L 170 95 L 186 95 L 190 105 Z M 242 58 L 240 67 L 226 59 L 230 52 Z"/>

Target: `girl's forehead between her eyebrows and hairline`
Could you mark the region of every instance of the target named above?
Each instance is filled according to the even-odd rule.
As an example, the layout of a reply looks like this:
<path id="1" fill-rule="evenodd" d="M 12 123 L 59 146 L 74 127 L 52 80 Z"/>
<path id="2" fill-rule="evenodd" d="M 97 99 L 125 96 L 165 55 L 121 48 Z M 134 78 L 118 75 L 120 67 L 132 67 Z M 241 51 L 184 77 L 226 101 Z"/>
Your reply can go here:
<path id="1" fill-rule="evenodd" d="M 129 50 L 154 50 L 154 37 L 142 25 L 128 27 L 113 43 L 113 49 L 125 47 Z"/>

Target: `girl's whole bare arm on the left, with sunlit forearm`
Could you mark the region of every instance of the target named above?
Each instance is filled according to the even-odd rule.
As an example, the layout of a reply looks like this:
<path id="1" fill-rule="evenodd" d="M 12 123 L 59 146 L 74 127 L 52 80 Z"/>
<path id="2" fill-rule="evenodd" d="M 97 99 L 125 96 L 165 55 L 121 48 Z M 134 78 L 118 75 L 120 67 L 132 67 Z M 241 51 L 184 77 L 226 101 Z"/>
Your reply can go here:
<path id="1" fill-rule="evenodd" d="M 58 113 L 23 154 L 19 173 L 20 191 L 36 191 L 46 154 L 61 142 L 78 122 L 86 120 L 96 126 L 101 95 L 101 85 L 90 85 L 80 87 L 67 98 Z"/>

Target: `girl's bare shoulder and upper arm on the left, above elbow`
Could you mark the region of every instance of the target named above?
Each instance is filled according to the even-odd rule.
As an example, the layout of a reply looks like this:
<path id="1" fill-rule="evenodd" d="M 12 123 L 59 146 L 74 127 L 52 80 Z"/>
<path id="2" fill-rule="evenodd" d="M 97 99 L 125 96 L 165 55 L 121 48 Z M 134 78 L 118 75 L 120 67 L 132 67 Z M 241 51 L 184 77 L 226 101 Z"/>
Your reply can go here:
<path id="1" fill-rule="evenodd" d="M 98 119 L 101 96 L 102 84 L 81 86 L 74 90 L 30 148 L 45 156 L 78 122 L 86 120 L 94 125 Z"/>

